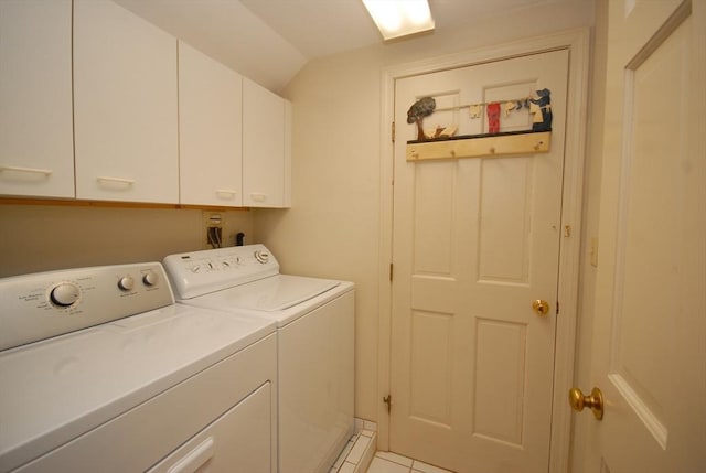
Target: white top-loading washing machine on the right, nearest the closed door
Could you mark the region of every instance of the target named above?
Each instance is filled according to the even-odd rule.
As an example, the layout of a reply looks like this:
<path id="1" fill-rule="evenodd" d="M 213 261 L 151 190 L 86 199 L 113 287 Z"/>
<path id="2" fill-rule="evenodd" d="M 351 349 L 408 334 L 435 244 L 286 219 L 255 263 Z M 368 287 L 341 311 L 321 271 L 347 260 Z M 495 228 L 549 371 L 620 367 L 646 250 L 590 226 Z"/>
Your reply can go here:
<path id="1" fill-rule="evenodd" d="M 171 255 L 176 300 L 277 323 L 279 472 L 329 472 L 354 429 L 354 286 L 279 273 L 263 245 Z"/>

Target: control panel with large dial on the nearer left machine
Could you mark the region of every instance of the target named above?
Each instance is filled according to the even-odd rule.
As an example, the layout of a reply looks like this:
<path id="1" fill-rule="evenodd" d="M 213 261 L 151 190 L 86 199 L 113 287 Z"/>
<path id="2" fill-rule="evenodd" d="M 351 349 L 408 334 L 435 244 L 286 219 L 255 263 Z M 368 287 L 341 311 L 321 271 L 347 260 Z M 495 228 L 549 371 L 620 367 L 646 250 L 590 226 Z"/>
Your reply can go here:
<path id="1" fill-rule="evenodd" d="M 0 279 L 0 350 L 174 303 L 159 262 L 76 268 Z"/>

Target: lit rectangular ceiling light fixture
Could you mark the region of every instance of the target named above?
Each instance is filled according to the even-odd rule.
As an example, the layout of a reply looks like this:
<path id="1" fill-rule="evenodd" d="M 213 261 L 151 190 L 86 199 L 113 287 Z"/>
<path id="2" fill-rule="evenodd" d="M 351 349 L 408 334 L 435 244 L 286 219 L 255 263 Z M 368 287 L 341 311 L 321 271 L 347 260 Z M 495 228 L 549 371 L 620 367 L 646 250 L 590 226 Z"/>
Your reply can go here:
<path id="1" fill-rule="evenodd" d="M 385 41 L 434 30 L 427 0 L 363 0 Z"/>

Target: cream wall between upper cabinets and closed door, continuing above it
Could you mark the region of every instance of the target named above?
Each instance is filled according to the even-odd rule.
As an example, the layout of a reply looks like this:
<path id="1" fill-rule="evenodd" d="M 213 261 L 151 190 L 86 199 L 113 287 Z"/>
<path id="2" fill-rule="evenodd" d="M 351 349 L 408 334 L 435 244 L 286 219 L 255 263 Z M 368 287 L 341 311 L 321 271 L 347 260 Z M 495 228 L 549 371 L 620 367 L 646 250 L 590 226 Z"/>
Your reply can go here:
<path id="1" fill-rule="evenodd" d="M 376 420 L 382 72 L 432 56 L 591 26 L 593 1 L 555 1 L 466 28 L 309 63 L 289 85 L 293 104 L 290 211 L 256 211 L 256 238 L 282 270 L 353 280 L 356 416 Z M 385 137 L 385 139 L 387 139 Z"/>

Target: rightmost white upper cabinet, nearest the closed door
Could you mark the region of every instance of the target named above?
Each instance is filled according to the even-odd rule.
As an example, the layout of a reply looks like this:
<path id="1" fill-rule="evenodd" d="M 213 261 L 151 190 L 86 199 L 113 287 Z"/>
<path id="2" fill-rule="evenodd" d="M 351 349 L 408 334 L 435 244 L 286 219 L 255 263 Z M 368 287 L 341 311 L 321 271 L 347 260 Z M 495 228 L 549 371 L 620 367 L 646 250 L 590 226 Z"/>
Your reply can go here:
<path id="1" fill-rule="evenodd" d="M 289 101 L 243 79 L 243 204 L 289 207 Z"/>

